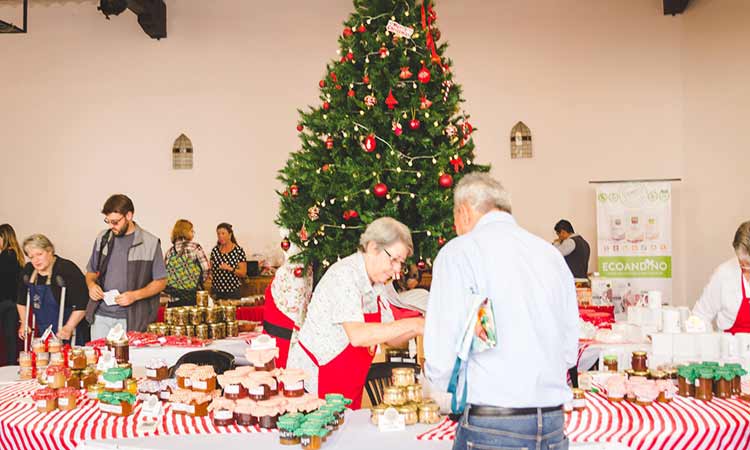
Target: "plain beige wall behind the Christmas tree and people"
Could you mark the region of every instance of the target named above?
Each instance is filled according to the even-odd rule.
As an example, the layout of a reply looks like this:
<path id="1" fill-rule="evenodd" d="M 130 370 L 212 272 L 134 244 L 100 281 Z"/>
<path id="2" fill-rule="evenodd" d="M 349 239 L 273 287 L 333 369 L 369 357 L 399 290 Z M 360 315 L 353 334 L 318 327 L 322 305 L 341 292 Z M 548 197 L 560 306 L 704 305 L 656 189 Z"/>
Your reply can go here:
<path id="1" fill-rule="evenodd" d="M 685 178 L 675 186 L 675 301 L 692 303 L 729 255 L 715 242 L 750 216 L 737 164 L 747 161 L 740 45 L 750 37 L 739 26 L 750 14 L 742 0 L 714 0 L 664 17 L 660 3 L 442 0 L 437 12 L 480 128 L 479 160 L 494 165 L 525 227 L 551 239 L 565 217 L 593 244 L 589 180 Z M 0 61 L 13 68 L 0 71 L 0 222 L 47 233 L 83 265 L 101 204 L 121 191 L 164 241 L 186 217 L 206 247 L 229 221 L 248 253 L 276 248 L 276 170 L 298 148 L 296 108 L 317 102 L 351 1 L 168 4 L 161 42 L 130 13 L 104 20 L 94 2 L 32 2 L 31 33 L 0 36 Z M 509 159 L 518 120 L 534 135 L 531 160 Z M 182 132 L 196 147 L 191 172 L 170 169 Z"/>

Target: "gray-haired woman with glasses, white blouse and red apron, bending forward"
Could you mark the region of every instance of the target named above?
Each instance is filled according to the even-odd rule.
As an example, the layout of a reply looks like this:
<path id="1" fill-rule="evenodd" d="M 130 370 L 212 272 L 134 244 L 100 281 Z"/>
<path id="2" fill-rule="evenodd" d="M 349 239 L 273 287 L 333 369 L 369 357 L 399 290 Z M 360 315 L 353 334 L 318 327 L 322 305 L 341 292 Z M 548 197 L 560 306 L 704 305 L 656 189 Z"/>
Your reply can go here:
<path id="1" fill-rule="evenodd" d="M 382 217 L 362 234 L 359 251 L 323 275 L 287 363 L 310 374 L 308 392 L 344 394 L 358 409 L 375 347 L 398 345 L 423 333 L 423 318 L 394 320 L 381 299 L 386 283 L 398 278 L 412 252 L 406 225 Z"/>

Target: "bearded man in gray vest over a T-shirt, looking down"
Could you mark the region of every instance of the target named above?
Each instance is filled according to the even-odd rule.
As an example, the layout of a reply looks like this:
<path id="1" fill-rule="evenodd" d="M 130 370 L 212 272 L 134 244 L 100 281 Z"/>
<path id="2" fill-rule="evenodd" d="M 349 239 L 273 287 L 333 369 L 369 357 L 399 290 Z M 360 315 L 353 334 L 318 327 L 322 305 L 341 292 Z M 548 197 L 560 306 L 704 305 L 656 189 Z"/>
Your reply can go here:
<path id="1" fill-rule="evenodd" d="M 97 236 L 86 266 L 86 320 L 92 339 L 106 337 L 117 324 L 145 331 L 156 320 L 167 269 L 159 238 L 133 221 L 134 212 L 132 200 L 122 194 L 109 197 L 102 208 L 109 228 Z M 114 303 L 102 301 L 105 292 L 113 290 L 119 292 Z"/>

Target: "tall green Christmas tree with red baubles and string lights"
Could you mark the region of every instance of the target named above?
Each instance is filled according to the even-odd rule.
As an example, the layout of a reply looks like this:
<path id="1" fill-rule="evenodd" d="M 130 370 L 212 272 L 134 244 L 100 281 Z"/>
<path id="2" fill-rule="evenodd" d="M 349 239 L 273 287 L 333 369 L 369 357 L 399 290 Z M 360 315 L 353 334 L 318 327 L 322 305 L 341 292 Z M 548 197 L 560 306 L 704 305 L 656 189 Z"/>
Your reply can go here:
<path id="1" fill-rule="evenodd" d="M 340 59 L 320 80 L 320 105 L 299 111 L 302 148 L 280 171 L 286 189 L 276 223 L 319 267 L 357 249 L 373 220 L 412 231 L 420 269 L 455 236 L 453 190 L 474 164 L 474 128 L 459 104 L 452 62 L 439 44 L 429 0 L 354 0 L 339 37 Z M 301 276 L 302 271 L 298 270 Z"/>

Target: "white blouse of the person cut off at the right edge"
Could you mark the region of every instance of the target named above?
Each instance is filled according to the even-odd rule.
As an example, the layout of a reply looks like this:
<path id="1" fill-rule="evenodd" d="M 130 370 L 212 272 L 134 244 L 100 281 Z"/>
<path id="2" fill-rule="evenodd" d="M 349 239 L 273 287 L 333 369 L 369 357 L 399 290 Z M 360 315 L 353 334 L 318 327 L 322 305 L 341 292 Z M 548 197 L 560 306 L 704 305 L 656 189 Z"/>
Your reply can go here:
<path id="1" fill-rule="evenodd" d="M 745 294 L 750 296 L 750 283 L 742 276 L 737 258 L 723 262 L 703 288 L 703 294 L 696 302 L 693 314 L 707 324 L 716 319 L 716 326 L 720 330 L 732 328 L 742 304 L 740 280 L 745 285 Z"/>

